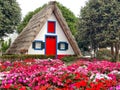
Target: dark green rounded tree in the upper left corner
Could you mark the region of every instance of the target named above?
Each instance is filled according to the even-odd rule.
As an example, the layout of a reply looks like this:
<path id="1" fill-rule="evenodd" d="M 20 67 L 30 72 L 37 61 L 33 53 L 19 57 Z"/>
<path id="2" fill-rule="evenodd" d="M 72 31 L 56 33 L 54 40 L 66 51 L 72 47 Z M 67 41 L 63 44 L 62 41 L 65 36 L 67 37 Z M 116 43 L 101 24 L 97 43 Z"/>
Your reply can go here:
<path id="1" fill-rule="evenodd" d="M 21 9 L 16 0 L 0 0 L 0 39 L 13 33 L 21 20 Z"/>

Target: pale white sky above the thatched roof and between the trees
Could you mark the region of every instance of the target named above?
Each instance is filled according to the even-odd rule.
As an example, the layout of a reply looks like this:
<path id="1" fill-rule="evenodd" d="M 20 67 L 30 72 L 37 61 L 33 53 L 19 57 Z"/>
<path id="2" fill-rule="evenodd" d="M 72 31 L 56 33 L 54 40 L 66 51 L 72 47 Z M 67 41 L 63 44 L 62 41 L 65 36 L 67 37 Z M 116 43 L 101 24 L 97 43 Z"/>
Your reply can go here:
<path id="1" fill-rule="evenodd" d="M 17 2 L 20 5 L 20 8 L 22 9 L 22 17 L 25 17 L 25 15 L 30 12 L 34 11 L 36 8 L 41 7 L 45 3 L 48 3 L 49 1 L 53 0 L 17 0 Z M 85 6 L 85 3 L 88 0 L 54 0 L 61 3 L 63 6 L 70 9 L 75 16 L 79 16 L 81 7 Z"/>

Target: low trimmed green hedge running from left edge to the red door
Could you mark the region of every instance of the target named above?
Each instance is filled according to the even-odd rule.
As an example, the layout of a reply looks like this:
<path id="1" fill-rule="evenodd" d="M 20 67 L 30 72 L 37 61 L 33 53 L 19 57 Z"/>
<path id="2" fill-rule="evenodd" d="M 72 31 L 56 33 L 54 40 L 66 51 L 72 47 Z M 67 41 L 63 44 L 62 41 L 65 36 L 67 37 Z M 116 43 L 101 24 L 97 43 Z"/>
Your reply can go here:
<path id="1" fill-rule="evenodd" d="M 55 56 L 45 56 L 45 55 L 3 55 L 0 56 L 0 58 L 5 61 L 5 60 L 10 60 L 10 61 L 16 61 L 16 60 L 24 60 L 24 59 L 47 59 L 47 58 L 55 58 Z"/>

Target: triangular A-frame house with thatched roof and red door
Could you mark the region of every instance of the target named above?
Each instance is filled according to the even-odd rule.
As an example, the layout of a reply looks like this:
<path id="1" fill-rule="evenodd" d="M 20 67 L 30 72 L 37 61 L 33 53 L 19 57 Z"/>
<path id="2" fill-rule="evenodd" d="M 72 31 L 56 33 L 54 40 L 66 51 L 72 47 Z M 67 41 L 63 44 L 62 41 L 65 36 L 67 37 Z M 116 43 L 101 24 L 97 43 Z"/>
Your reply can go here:
<path id="1" fill-rule="evenodd" d="M 55 1 L 35 14 L 6 54 L 81 56 L 80 49 Z"/>

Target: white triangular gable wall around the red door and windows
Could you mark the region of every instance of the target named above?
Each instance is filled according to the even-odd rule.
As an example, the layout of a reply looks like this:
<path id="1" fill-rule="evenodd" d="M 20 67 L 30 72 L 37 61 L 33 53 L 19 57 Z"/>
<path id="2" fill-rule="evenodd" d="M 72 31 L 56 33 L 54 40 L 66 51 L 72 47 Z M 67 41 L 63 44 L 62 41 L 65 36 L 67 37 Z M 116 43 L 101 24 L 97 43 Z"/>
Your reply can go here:
<path id="1" fill-rule="evenodd" d="M 60 51 L 57 49 L 57 55 L 74 55 L 74 51 L 71 47 L 71 45 L 69 44 L 61 26 L 59 25 L 56 17 L 54 14 L 51 15 L 51 17 L 48 19 L 48 21 L 55 21 L 56 22 L 56 31 L 55 33 L 47 33 L 47 22 L 45 23 L 45 25 L 43 26 L 43 28 L 40 30 L 39 34 L 36 36 L 36 38 L 34 40 L 40 40 L 45 42 L 45 35 L 53 35 L 53 36 L 57 36 L 57 43 L 59 42 L 67 42 L 68 43 L 68 50 L 65 51 Z M 34 50 L 32 48 L 32 45 L 29 47 L 28 49 L 28 54 L 45 54 L 45 49 L 43 50 Z"/>

